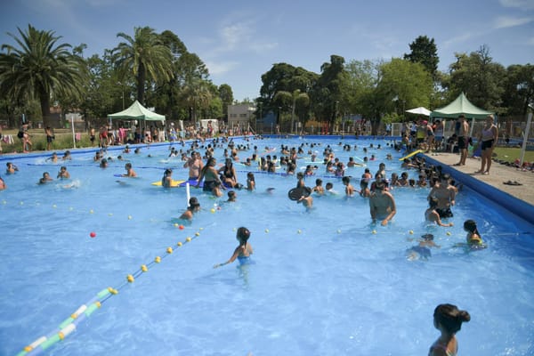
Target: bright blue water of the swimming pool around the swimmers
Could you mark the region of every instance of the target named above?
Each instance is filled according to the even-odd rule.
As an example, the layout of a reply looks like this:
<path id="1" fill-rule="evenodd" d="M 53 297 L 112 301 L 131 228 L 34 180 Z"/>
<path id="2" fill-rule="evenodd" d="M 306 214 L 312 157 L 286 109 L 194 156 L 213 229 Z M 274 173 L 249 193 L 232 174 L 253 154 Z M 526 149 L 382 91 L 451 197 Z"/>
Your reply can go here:
<path id="1" fill-rule="evenodd" d="M 339 139 L 250 144 L 263 150 L 281 142 L 320 141 L 316 150 L 330 144 L 345 163 L 350 156 L 362 158 L 363 147 L 373 143 L 368 156 L 377 159 L 368 163 L 371 172 L 385 162 L 388 176 L 401 173 L 401 154 L 386 142 L 344 139 L 359 146 L 350 152 Z M 103 288 L 124 284 L 49 350 L 54 355 L 426 354 L 439 336 L 433 308 L 455 303 L 472 315 L 457 335 L 460 354 L 534 352 L 534 229 L 472 190 L 465 188 L 457 198 L 455 226 L 438 229 L 423 221 L 428 190 L 395 189 L 398 214 L 382 227 L 371 224 L 367 200 L 343 194 L 315 198 L 307 213 L 287 198 L 295 177 L 254 170 L 257 190 L 238 190 L 234 204 L 191 190 L 203 210 L 180 230 L 172 219 L 182 214 L 186 191 L 150 184 L 168 166 L 174 167 L 174 179 L 187 175 L 178 158 L 167 158 L 167 149 L 143 147 L 140 155 L 127 155 L 140 176 L 130 180 L 113 176 L 124 173 L 124 162 L 101 169 L 93 152 L 75 152 L 66 164 L 72 180 L 44 186 L 36 185 L 43 172 L 55 177 L 61 163 L 38 155 L 1 158 L 3 165 L 12 160 L 20 168 L 2 174 L 8 190 L 0 192 L 1 354 L 20 352 Z M 386 153 L 394 159 L 384 160 Z M 251 154 L 240 151 L 239 157 Z M 217 149 L 219 162 L 222 155 Z M 240 182 L 249 169 L 238 167 Z M 359 177 L 362 168 L 346 172 Z M 338 179 L 322 179 L 343 192 Z M 314 180 L 308 178 L 308 185 Z M 64 187 L 71 183 L 74 188 Z M 268 193 L 271 187 L 275 190 Z M 468 218 L 479 224 L 487 249 L 466 253 L 453 247 L 465 240 L 461 225 Z M 237 246 L 239 226 L 252 232 L 255 264 L 214 270 Z M 415 245 L 408 239 L 429 229 L 441 248 L 433 249 L 428 261 L 408 261 L 406 249 Z M 186 243 L 177 247 L 178 242 Z M 167 247 L 174 252 L 167 254 Z M 166 258 L 126 282 L 156 256 Z"/>

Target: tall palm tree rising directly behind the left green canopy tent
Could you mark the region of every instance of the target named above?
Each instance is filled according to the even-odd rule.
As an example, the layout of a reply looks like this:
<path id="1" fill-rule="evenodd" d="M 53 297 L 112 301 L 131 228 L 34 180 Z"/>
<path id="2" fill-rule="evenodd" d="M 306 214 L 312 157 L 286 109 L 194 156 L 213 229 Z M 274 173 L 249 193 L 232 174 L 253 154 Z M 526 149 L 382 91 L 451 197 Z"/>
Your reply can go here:
<path id="1" fill-rule="evenodd" d="M 173 56 L 161 36 L 153 28 L 134 28 L 134 37 L 123 32 L 117 34 L 126 42 L 121 42 L 113 50 L 117 65 L 131 70 L 137 80 L 137 100 L 144 104 L 147 79 L 168 81 L 173 77 Z"/>

